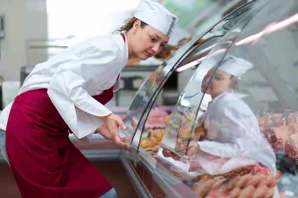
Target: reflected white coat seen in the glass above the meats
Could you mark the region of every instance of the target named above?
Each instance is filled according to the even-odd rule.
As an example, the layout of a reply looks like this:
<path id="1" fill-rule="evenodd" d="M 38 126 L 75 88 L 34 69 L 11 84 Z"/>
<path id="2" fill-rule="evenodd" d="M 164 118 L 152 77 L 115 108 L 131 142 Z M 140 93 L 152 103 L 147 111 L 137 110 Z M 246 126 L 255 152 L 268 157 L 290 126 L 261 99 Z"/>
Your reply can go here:
<path id="1" fill-rule="evenodd" d="M 233 92 L 226 91 L 210 102 L 202 118 L 207 132 L 205 140 L 198 142 L 201 150 L 226 158 L 248 154 L 269 168 L 275 165 L 275 154 L 262 137 L 254 113 Z M 201 164 L 207 161 L 200 160 Z"/>

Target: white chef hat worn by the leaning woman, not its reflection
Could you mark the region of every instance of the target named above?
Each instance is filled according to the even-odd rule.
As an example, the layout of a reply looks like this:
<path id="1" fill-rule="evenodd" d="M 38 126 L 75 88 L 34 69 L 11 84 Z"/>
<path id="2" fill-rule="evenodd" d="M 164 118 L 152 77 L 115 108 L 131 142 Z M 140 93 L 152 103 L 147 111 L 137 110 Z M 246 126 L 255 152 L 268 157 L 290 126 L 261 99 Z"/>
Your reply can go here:
<path id="1" fill-rule="evenodd" d="M 144 21 L 156 30 L 171 37 L 178 17 L 170 13 L 163 5 L 152 0 L 141 0 L 134 17 Z"/>

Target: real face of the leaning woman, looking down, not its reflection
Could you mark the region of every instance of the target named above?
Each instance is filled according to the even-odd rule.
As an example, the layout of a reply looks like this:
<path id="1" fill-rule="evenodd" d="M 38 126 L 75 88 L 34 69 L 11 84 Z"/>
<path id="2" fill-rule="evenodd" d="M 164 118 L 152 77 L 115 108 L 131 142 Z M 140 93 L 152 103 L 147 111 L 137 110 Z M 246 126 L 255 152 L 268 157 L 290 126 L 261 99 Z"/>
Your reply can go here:
<path id="1" fill-rule="evenodd" d="M 141 21 L 137 20 L 133 27 L 131 48 L 133 53 L 146 60 L 156 55 L 169 41 L 169 37 L 150 25 L 141 28 Z"/>

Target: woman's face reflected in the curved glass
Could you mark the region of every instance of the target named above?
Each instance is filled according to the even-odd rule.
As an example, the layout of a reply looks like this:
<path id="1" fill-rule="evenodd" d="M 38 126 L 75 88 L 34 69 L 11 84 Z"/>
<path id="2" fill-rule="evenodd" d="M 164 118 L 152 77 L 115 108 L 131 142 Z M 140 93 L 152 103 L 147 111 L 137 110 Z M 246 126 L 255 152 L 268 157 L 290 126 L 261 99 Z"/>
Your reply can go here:
<path id="1" fill-rule="evenodd" d="M 210 69 L 207 75 L 204 77 L 202 83 L 202 91 L 205 91 L 206 86 L 211 81 L 205 93 L 210 94 L 211 97 L 214 99 L 215 97 L 223 94 L 231 87 L 231 84 L 234 81 L 234 77 L 232 77 L 229 73 L 217 70 L 214 74 L 213 79 L 211 80 L 213 73 L 214 68 Z"/>

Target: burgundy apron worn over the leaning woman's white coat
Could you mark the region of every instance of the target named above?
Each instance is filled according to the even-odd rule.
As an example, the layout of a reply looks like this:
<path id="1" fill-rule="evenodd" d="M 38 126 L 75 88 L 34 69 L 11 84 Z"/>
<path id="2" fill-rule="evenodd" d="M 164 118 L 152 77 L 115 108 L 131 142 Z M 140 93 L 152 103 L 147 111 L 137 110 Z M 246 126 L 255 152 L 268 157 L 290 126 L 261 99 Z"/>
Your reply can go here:
<path id="1" fill-rule="evenodd" d="M 106 104 L 113 98 L 113 87 L 93 98 Z M 6 151 L 22 198 L 98 198 L 113 188 L 74 147 L 47 89 L 15 98 L 6 127 Z"/>

